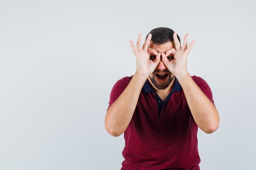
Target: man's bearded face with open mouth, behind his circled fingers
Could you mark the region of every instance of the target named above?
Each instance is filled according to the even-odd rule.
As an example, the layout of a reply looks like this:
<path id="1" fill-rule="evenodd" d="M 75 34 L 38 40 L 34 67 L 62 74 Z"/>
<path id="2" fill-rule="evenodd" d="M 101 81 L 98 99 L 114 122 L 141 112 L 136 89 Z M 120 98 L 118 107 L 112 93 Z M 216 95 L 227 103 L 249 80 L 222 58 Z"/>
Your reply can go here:
<path id="1" fill-rule="evenodd" d="M 155 49 L 158 53 L 166 53 L 167 58 L 171 58 L 170 56 L 173 56 L 172 54 L 168 53 L 168 50 L 173 49 L 175 47 L 174 42 L 166 42 L 161 45 L 153 44 L 152 41 L 150 41 L 150 44 L 148 45 L 148 48 Z M 154 54 L 150 54 L 150 59 L 154 60 Z M 149 79 L 154 84 L 154 86 L 158 89 L 165 89 L 167 88 L 172 80 L 174 78 L 174 75 L 166 68 L 162 61 L 162 55 L 161 55 L 161 61 L 155 68 L 154 72 L 149 75 Z"/>

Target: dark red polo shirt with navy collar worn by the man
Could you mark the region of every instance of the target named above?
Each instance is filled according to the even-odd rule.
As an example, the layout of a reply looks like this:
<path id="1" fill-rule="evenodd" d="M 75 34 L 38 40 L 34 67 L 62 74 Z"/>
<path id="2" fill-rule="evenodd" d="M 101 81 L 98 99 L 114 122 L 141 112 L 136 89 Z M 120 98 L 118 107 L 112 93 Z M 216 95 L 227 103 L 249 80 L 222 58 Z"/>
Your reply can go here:
<path id="1" fill-rule="evenodd" d="M 207 82 L 195 75 L 192 78 L 214 104 Z M 116 82 L 108 108 L 131 79 L 124 77 Z M 121 170 L 200 170 L 197 132 L 198 125 L 177 79 L 164 102 L 146 80 L 124 132 Z"/>

